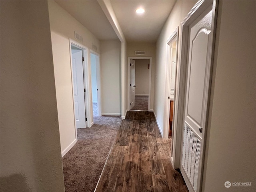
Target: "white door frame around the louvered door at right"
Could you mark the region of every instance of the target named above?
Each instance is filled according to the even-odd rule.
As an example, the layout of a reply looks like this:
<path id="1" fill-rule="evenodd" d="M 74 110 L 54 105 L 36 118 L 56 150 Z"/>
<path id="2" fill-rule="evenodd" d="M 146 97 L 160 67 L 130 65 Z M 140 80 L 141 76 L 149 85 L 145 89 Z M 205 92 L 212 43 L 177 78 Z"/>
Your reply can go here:
<path id="1" fill-rule="evenodd" d="M 184 101 L 185 101 L 185 84 L 186 84 L 186 65 L 187 65 L 187 48 L 188 48 L 188 26 L 200 16 L 204 12 L 206 8 L 212 5 L 212 39 L 210 41 L 209 49 L 211 52 L 210 55 L 210 72 L 209 72 L 209 81 L 208 81 L 208 96 L 207 96 L 207 112 L 206 112 L 206 126 L 208 120 L 208 109 L 210 102 L 210 86 L 211 86 L 211 78 L 212 78 L 212 64 L 214 57 L 214 43 L 215 43 L 215 34 L 216 34 L 216 20 L 217 20 L 217 9 L 218 9 L 218 1 L 216 0 L 200 0 L 196 3 L 196 5 L 192 8 L 192 10 L 188 13 L 186 18 L 182 22 L 181 27 L 181 46 L 180 46 L 180 62 L 177 66 L 177 72 L 179 74 L 177 78 L 177 93 L 176 93 L 176 109 L 177 116 L 176 127 L 180 129 L 176 130 L 176 147 L 174 151 L 174 168 L 179 168 L 181 165 L 181 148 L 182 148 L 182 134 L 184 127 Z M 198 177 L 198 192 L 202 190 L 202 175 L 203 175 L 203 166 L 204 166 L 204 154 L 205 154 L 205 144 L 206 144 L 206 133 L 207 129 L 204 130 L 203 138 L 202 138 L 202 154 L 199 165 L 199 177 Z M 184 178 L 186 182 L 189 182 L 187 178 Z M 189 191 L 194 191 L 193 188 L 189 189 Z"/>

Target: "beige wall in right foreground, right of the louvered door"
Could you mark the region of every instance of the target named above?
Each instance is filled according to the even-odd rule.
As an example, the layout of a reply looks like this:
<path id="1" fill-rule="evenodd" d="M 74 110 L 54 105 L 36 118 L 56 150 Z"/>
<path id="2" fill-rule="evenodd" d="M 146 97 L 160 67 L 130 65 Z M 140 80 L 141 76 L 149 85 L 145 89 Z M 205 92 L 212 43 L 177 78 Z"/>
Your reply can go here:
<path id="1" fill-rule="evenodd" d="M 220 1 L 203 190 L 256 191 L 256 1 Z M 252 182 L 225 188 L 224 182 Z"/>

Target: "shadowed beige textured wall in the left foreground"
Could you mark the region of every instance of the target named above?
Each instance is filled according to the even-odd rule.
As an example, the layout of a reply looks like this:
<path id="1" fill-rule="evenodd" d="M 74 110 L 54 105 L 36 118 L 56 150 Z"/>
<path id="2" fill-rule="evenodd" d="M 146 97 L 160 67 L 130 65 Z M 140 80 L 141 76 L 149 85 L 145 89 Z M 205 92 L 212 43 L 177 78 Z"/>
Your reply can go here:
<path id="1" fill-rule="evenodd" d="M 1 192 L 64 192 L 46 1 L 1 1 Z"/>

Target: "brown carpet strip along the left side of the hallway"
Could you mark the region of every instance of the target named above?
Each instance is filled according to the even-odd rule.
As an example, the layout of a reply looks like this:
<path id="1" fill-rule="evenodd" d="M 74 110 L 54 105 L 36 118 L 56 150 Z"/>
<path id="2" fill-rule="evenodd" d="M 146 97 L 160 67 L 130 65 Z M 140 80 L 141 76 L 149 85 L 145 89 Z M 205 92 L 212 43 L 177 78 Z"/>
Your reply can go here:
<path id="1" fill-rule="evenodd" d="M 91 128 L 78 129 L 78 142 L 62 158 L 65 192 L 93 192 L 120 128 L 120 116 L 94 116 Z"/>

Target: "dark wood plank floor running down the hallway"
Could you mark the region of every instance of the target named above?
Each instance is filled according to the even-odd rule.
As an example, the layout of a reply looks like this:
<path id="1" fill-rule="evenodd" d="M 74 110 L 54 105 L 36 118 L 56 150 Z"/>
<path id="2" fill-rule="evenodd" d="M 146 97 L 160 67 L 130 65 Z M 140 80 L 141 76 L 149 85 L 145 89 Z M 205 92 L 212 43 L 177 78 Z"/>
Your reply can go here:
<path id="1" fill-rule="evenodd" d="M 95 191 L 188 192 L 170 152 L 171 140 L 161 137 L 152 112 L 128 112 Z"/>

